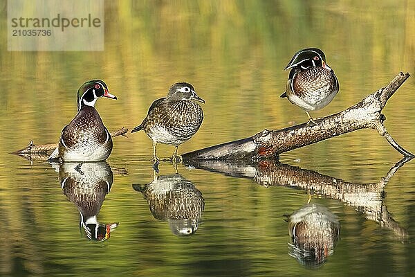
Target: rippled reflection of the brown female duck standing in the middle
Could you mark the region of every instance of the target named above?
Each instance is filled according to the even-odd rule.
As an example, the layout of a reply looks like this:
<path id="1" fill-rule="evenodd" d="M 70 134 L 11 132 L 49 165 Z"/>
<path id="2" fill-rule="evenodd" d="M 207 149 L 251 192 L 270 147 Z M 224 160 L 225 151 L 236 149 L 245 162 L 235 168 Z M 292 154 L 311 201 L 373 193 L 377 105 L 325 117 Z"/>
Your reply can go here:
<path id="1" fill-rule="evenodd" d="M 142 193 L 156 220 L 169 222 L 174 235 L 192 235 L 201 223 L 205 202 L 194 184 L 180 174 L 160 175 L 154 172 L 151 183 L 134 190 Z"/>

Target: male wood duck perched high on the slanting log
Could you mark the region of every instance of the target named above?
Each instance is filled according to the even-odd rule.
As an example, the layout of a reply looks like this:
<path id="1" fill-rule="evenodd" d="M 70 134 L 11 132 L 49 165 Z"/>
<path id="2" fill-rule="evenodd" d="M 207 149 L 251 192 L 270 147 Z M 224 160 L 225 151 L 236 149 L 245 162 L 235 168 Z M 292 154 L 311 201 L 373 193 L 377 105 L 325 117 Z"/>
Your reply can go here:
<path id="1" fill-rule="evenodd" d="M 315 123 L 308 111 L 322 109 L 339 91 L 338 78 L 326 64 L 326 56 L 318 48 L 306 48 L 295 53 L 285 69 L 291 69 L 282 98 L 304 109 L 308 123 Z"/>

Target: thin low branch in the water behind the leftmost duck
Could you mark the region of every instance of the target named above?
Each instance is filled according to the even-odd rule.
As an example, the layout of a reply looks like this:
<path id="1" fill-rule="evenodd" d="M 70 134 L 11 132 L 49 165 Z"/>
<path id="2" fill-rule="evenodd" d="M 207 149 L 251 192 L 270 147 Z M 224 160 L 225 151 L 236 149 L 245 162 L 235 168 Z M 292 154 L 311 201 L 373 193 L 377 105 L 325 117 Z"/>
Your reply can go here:
<path id="1" fill-rule="evenodd" d="M 111 132 L 111 136 L 127 136 L 128 129 L 125 127 L 122 127 L 121 129 L 118 129 L 114 132 Z M 48 152 L 53 151 L 57 148 L 57 143 L 48 143 L 48 144 L 42 144 L 42 145 L 35 145 L 33 141 L 30 141 L 29 144 L 22 148 L 21 150 L 17 150 L 16 152 L 12 152 L 12 154 L 17 154 L 22 157 L 25 157 L 28 159 L 48 159 Z"/>

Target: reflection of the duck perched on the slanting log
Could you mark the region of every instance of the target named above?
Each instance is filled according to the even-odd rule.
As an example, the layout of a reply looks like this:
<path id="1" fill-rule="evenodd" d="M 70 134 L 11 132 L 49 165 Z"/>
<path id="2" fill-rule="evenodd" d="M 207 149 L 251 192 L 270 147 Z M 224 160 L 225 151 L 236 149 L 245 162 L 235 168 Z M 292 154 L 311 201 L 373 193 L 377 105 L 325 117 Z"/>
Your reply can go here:
<path id="1" fill-rule="evenodd" d="M 333 254 L 340 238 L 340 222 L 328 208 L 306 204 L 288 216 L 288 233 L 292 240 L 288 254 L 302 265 L 315 268 Z"/>

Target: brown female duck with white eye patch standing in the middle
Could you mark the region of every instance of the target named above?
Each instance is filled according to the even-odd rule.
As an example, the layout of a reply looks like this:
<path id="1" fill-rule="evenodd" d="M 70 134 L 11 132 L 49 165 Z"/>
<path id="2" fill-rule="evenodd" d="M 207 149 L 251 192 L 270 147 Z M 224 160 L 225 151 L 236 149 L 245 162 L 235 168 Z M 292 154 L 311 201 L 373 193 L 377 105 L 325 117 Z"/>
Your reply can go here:
<path id="1" fill-rule="evenodd" d="M 146 118 L 131 130 L 133 133 L 142 129 L 153 141 L 153 159 L 156 164 L 157 143 L 174 145 L 176 148 L 172 159 L 176 159 L 178 145 L 190 139 L 201 127 L 203 111 L 192 100 L 205 102 L 197 96 L 192 84 L 177 82 L 170 87 L 167 97 L 151 104 Z"/>

